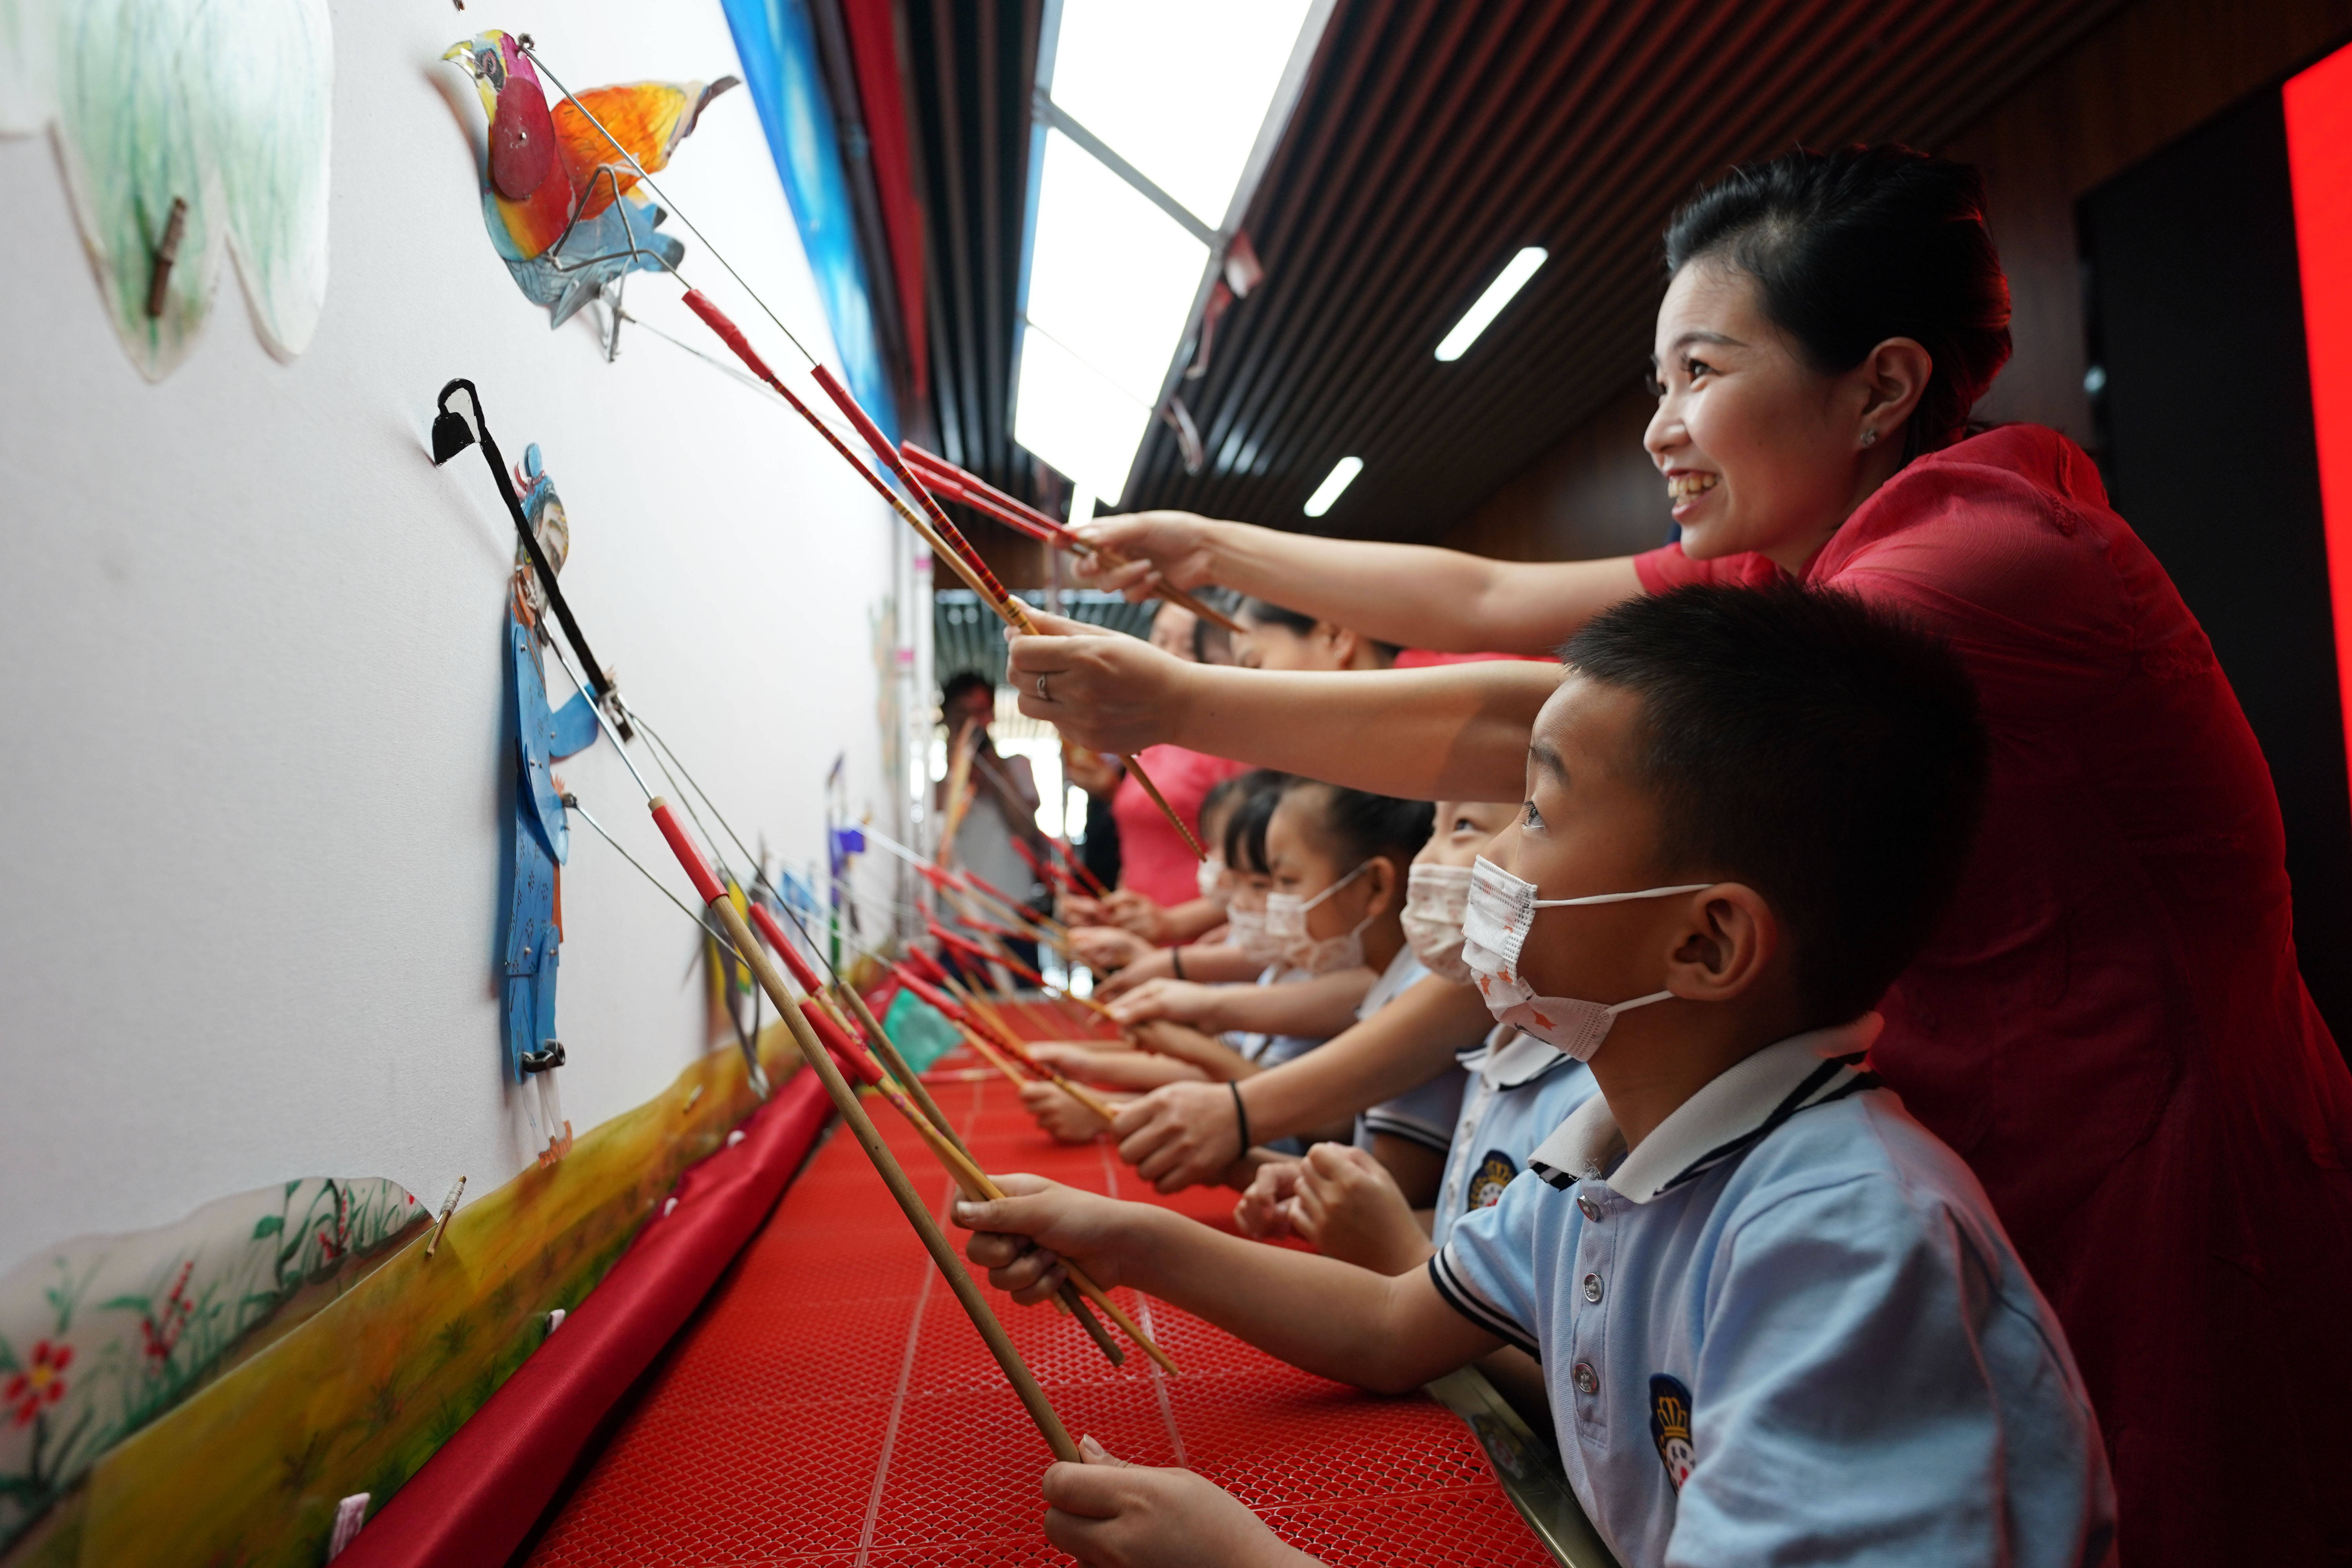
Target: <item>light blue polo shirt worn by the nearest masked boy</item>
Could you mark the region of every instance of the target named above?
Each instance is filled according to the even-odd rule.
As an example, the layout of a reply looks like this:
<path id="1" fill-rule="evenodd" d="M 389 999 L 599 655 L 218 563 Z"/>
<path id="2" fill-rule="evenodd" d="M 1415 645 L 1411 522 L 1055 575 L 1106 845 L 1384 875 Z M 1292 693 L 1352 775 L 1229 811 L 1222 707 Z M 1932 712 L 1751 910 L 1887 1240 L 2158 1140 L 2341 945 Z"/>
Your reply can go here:
<path id="1" fill-rule="evenodd" d="M 1959 1157 L 1851 1065 L 1875 1034 L 1766 1046 L 1632 1154 L 1592 1095 L 1430 1260 L 1541 1354 L 1569 1483 L 1625 1568 L 2112 1547 L 2058 1319 Z"/>

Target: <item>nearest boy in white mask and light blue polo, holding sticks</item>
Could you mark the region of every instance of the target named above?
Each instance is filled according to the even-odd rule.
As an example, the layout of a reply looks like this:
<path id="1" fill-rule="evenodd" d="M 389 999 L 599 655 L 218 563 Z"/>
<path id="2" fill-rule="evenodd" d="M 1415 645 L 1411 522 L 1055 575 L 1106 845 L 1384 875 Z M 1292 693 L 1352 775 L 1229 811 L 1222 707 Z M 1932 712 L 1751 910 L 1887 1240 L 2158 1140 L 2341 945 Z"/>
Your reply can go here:
<path id="1" fill-rule="evenodd" d="M 1599 1084 L 1498 1204 L 1381 1276 L 1004 1178 L 955 1211 L 969 1253 L 1021 1302 L 1065 1255 L 1371 1389 L 1519 1345 L 1628 1568 L 2100 1563 L 2112 1488 L 2058 1319 L 1860 1065 L 1985 755 L 1959 663 L 1851 597 L 1628 599 L 1569 644 L 1472 882 L 1489 1006 Z M 1054 1465 L 1044 1490 L 1082 1561 L 1301 1561 L 1190 1472 Z"/>

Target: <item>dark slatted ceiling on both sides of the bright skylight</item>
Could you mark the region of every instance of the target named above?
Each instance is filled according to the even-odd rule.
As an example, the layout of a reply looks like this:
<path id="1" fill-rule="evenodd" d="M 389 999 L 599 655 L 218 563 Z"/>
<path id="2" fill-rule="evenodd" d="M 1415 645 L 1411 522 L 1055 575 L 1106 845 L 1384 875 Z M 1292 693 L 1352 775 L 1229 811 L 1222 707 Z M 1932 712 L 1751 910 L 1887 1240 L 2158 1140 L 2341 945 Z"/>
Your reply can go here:
<path id="1" fill-rule="evenodd" d="M 2117 2 L 1341 0 L 1249 212 L 1268 277 L 1181 388 L 1207 468 L 1185 475 L 1155 428 L 1129 503 L 1439 534 L 1642 376 L 1658 235 L 1693 188 L 1795 143 L 1940 146 Z M 1037 7 L 908 7 L 941 440 L 1021 491 L 1007 404 Z M 1522 244 L 1548 266 L 1439 364 Z M 1310 524 L 1301 503 L 1345 454 L 1364 475 Z"/>

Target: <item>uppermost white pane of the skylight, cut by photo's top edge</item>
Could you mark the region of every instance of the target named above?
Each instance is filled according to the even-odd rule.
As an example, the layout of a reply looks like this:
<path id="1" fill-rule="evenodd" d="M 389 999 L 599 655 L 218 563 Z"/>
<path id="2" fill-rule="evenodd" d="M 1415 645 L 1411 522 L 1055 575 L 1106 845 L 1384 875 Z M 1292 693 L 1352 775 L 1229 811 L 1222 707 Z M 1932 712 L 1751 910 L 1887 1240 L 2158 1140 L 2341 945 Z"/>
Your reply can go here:
<path id="1" fill-rule="evenodd" d="M 1054 103 L 1218 228 L 1312 0 L 1063 0 Z"/>

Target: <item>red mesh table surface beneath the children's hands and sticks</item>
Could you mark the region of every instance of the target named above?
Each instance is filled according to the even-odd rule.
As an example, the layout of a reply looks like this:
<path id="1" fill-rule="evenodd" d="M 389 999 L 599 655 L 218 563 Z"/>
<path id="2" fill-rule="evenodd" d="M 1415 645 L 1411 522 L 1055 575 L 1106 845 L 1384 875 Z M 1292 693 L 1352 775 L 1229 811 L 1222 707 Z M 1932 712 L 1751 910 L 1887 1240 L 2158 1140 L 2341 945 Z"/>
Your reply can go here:
<path id="1" fill-rule="evenodd" d="M 1002 1081 L 936 1093 L 990 1171 L 1218 1225 L 1232 1208 L 1223 1190 L 1160 1199 L 1108 1147 L 1047 1140 Z M 943 1215 L 946 1173 L 887 1105 L 873 1110 Z M 981 1288 L 1073 1436 L 1091 1432 L 1141 1465 L 1190 1465 L 1324 1561 L 1552 1561 L 1470 1432 L 1428 1399 L 1324 1382 L 1131 1291 L 1120 1305 L 1183 1375 L 1141 1352 L 1115 1368 L 1070 1319 Z M 680 1335 L 529 1563 L 1065 1563 L 1040 1530 L 1049 1460 L 880 1178 L 837 1135 Z"/>

